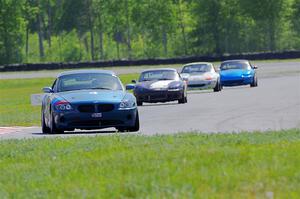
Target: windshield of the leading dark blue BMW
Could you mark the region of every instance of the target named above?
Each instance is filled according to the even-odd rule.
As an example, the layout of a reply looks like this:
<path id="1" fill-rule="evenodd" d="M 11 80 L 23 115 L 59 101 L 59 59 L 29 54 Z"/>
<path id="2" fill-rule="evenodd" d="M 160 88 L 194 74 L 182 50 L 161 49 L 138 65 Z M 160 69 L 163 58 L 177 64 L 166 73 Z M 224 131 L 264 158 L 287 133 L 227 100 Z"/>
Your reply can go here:
<path id="1" fill-rule="evenodd" d="M 122 90 L 118 77 L 101 73 L 81 73 L 59 77 L 57 91 L 73 91 L 83 89 Z"/>

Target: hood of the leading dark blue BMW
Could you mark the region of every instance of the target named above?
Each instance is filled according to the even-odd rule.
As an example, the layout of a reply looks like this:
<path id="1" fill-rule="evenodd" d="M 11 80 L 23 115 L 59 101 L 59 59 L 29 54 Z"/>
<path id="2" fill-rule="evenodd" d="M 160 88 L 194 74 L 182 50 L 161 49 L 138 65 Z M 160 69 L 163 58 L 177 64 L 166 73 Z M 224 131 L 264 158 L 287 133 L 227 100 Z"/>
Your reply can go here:
<path id="1" fill-rule="evenodd" d="M 110 102 L 119 103 L 124 98 L 126 92 L 122 90 L 77 90 L 61 92 L 58 95 L 70 103 L 85 102 Z"/>

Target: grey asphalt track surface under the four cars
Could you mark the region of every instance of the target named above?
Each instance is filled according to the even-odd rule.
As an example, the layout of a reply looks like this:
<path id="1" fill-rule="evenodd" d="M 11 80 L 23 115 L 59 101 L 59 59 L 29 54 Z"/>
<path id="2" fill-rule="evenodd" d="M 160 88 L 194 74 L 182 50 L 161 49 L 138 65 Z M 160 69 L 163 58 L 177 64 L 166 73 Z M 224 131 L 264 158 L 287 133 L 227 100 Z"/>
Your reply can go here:
<path id="1" fill-rule="evenodd" d="M 242 132 L 300 128 L 300 62 L 261 63 L 258 87 L 226 87 L 219 93 L 190 91 L 187 104 L 176 102 L 139 107 L 137 133 Z M 113 128 L 43 135 L 40 127 L 0 128 L 0 139 L 112 135 Z"/>

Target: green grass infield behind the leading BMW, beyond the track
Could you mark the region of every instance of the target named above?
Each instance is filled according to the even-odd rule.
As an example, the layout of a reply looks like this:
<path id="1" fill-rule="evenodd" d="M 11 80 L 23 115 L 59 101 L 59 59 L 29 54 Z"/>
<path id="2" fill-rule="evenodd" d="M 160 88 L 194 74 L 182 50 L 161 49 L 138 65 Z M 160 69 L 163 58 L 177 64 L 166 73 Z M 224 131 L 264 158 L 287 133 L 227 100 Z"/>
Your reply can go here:
<path id="1" fill-rule="evenodd" d="M 137 79 L 138 74 L 120 75 L 123 84 Z M 42 93 L 54 78 L 0 80 L 0 126 L 32 126 L 40 124 L 40 106 L 31 106 L 30 95 Z"/>

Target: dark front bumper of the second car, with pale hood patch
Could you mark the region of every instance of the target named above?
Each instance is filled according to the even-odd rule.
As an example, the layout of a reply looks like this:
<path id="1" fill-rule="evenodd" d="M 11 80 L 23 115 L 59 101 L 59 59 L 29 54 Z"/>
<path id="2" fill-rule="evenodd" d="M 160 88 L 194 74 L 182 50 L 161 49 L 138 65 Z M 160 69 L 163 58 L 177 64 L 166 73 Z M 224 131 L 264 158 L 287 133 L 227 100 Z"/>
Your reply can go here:
<path id="1" fill-rule="evenodd" d="M 143 93 L 135 92 L 134 95 L 137 101 L 140 102 L 168 102 L 168 101 L 175 101 L 182 98 L 184 94 L 183 89 L 178 90 L 151 90 L 145 91 Z"/>

